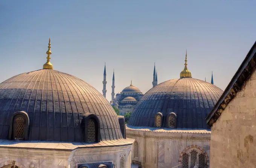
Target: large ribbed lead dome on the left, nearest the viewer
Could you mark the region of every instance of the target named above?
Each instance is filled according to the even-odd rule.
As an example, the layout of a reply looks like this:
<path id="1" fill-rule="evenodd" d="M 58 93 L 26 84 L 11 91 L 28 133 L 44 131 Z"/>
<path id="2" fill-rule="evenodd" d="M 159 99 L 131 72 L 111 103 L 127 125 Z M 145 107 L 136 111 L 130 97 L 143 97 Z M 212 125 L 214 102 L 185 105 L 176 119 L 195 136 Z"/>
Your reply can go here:
<path id="1" fill-rule="evenodd" d="M 88 83 L 55 70 L 19 74 L 0 83 L 0 139 L 8 138 L 14 112 L 29 116 L 28 140 L 81 141 L 83 114 L 96 114 L 101 140 L 122 138 L 118 117 Z"/>

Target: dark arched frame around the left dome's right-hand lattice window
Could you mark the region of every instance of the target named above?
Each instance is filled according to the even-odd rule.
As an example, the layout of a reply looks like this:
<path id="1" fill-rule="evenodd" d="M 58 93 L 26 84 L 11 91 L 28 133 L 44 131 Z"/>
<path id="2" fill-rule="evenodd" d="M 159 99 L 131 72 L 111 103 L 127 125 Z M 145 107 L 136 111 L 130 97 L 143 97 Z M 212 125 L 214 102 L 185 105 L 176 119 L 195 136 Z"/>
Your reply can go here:
<path id="1" fill-rule="evenodd" d="M 84 142 L 88 142 L 88 123 L 90 119 L 93 119 L 95 122 L 95 142 L 101 142 L 101 125 L 99 122 L 99 118 L 97 115 L 91 113 L 85 113 L 84 118 L 82 119 L 82 140 Z"/>

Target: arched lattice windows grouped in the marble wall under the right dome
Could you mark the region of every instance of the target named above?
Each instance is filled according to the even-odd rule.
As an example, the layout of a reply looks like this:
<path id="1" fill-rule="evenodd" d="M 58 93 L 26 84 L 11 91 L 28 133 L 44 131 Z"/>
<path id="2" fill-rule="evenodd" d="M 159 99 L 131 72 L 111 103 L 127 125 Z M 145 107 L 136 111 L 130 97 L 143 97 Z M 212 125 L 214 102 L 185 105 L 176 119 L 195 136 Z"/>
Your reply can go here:
<path id="1" fill-rule="evenodd" d="M 195 165 L 198 168 L 204 168 L 206 165 L 206 156 L 203 153 L 198 153 L 197 150 L 192 149 L 182 155 L 182 168 L 194 168 Z"/>

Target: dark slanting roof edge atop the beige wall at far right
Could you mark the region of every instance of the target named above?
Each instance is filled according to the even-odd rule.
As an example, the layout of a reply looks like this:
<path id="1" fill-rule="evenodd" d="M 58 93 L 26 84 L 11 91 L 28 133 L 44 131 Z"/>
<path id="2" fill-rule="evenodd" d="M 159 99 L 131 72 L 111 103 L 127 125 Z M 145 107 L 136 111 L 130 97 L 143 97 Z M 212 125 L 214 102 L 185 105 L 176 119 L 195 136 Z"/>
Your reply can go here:
<path id="1" fill-rule="evenodd" d="M 212 111 L 206 117 L 207 124 L 211 127 L 215 123 L 222 111 L 227 107 L 227 104 L 236 96 L 236 93 L 241 90 L 244 82 L 248 80 L 256 67 L 256 41 L 249 50 L 242 64 L 239 66 L 235 75 L 232 77 L 229 85 L 227 85 L 223 94 L 213 107 Z"/>

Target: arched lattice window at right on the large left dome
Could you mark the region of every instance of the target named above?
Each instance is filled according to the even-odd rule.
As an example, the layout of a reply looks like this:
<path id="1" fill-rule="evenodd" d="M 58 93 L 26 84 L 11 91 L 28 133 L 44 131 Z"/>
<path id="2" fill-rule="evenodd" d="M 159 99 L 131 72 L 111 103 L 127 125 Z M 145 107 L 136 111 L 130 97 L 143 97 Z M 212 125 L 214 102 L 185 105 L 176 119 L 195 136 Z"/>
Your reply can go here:
<path id="1" fill-rule="evenodd" d="M 100 122 L 95 114 L 86 113 L 81 122 L 82 139 L 85 142 L 100 142 Z"/>

